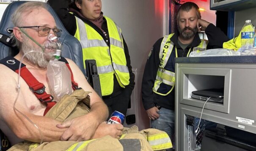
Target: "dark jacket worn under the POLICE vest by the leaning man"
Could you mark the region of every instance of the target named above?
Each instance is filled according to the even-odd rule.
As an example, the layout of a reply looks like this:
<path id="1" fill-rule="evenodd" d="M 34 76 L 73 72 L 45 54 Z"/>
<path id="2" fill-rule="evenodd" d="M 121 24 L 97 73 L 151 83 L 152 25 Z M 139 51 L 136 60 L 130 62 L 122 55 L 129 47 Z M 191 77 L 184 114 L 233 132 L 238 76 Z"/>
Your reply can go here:
<path id="1" fill-rule="evenodd" d="M 192 43 L 183 50 L 178 44 L 179 34 L 177 33 L 171 37 L 171 41 L 174 44 L 173 51 L 175 51 L 175 46 L 177 48 L 178 57 L 186 57 L 190 48 L 190 52 L 192 52 L 193 47 L 196 47 L 201 43 L 201 39 L 199 38 L 198 33 L 196 33 Z M 209 40 L 207 49 L 222 48 L 223 42 L 228 41 L 228 37 L 213 24 L 208 25 L 205 33 Z M 144 69 L 142 80 L 142 102 L 145 110 L 154 107 L 156 104 L 161 107 L 174 110 L 174 89 L 167 96 L 162 96 L 153 92 L 154 81 L 157 76 L 157 70 L 160 64 L 159 52 L 162 39 L 163 38 L 158 39 L 152 47 L 151 56 L 149 56 Z M 173 59 L 172 62 L 173 69 L 175 69 L 175 60 Z"/>

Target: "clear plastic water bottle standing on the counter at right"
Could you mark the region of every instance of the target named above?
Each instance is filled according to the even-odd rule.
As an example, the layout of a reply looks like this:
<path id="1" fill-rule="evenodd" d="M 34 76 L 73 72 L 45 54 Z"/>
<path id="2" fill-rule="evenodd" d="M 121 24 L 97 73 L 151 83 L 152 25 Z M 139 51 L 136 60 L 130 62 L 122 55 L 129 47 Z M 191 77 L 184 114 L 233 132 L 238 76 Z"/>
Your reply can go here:
<path id="1" fill-rule="evenodd" d="M 246 20 L 241 30 L 241 49 L 248 50 L 253 47 L 254 35 L 254 26 L 250 20 Z"/>

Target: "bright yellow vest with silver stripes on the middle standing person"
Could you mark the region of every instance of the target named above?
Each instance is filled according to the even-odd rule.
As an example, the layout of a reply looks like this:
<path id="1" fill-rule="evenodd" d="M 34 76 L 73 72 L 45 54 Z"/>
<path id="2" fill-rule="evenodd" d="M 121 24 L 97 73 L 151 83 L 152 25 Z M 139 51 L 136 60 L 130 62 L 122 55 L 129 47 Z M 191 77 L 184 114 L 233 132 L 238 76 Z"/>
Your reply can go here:
<path id="1" fill-rule="evenodd" d="M 78 17 L 76 17 L 77 30 L 74 37 L 82 45 L 84 67 L 85 60 L 96 60 L 102 96 L 107 96 L 113 93 L 114 74 L 122 88 L 129 85 L 130 76 L 124 54 L 121 29 L 113 20 L 106 16 L 104 17 L 107 20 L 110 47 L 93 27 Z"/>

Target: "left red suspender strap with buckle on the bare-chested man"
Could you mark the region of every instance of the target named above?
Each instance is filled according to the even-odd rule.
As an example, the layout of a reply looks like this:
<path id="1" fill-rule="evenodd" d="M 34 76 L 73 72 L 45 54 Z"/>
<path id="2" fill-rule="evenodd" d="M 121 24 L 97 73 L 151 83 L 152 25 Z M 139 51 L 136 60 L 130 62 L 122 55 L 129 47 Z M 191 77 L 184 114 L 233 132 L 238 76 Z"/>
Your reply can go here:
<path id="1" fill-rule="evenodd" d="M 19 69 L 15 70 L 15 72 L 19 74 Z M 31 74 L 31 72 L 26 68 L 26 66 L 23 66 L 21 68 L 20 76 L 28 84 L 30 90 L 33 91 L 37 99 L 39 99 L 42 103 L 45 103 L 47 105 L 44 111 L 45 115 L 56 104 L 56 102 L 52 102 L 53 96 L 45 92 L 44 84 L 36 80 L 36 78 Z"/>

